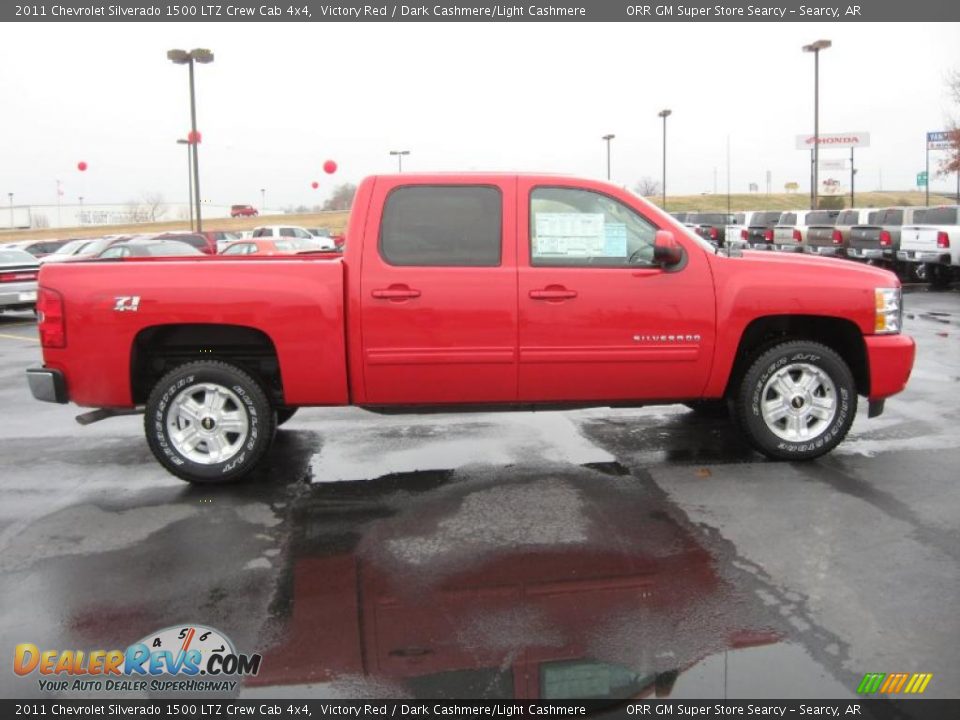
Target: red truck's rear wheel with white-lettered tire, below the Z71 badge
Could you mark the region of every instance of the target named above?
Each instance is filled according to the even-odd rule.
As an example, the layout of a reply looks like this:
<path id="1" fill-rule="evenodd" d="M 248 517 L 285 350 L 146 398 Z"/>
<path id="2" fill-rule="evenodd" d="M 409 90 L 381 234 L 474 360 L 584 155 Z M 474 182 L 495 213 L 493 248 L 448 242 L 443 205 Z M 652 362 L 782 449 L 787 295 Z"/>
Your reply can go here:
<path id="1" fill-rule="evenodd" d="M 174 368 L 147 400 L 144 432 L 154 457 L 192 483 L 227 483 L 247 475 L 275 430 L 260 383 L 224 362 Z"/>

